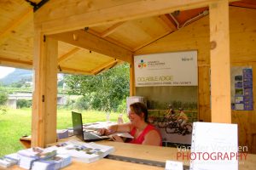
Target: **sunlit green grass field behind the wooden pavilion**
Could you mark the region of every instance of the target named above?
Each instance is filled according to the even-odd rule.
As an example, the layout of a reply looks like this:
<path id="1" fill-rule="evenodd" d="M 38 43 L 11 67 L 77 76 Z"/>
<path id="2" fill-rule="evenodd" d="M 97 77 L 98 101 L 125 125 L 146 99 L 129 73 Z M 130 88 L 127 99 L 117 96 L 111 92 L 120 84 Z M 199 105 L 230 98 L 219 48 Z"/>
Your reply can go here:
<path id="1" fill-rule="evenodd" d="M 106 121 L 106 114 L 102 111 L 79 111 L 83 114 L 83 123 Z M 115 122 L 118 113 L 111 113 L 110 121 Z M 6 114 L 0 114 L 0 156 L 14 153 L 23 149 L 20 137 L 31 134 L 31 109 L 9 109 Z M 127 116 L 123 116 L 128 122 Z M 71 111 L 57 111 L 57 129 L 72 127 Z"/>

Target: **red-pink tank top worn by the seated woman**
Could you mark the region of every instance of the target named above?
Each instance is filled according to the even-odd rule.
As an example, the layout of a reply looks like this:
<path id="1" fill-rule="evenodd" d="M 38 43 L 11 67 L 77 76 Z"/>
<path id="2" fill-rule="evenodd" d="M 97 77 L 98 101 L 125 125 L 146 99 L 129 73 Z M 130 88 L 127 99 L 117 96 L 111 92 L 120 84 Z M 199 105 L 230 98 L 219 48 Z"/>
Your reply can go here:
<path id="1" fill-rule="evenodd" d="M 147 134 L 149 131 L 151 131 L 151 130 L 156 130 L 156 131 L 159 133 L 159 135 L 160 135 L 160 132 L 159 132 L 153 125 L 148 124 L 148 126 L 144 128 L 143 133 L 141 133 L 141 134 L 137 137 L 137 139 L 134 138 L 134 139 L 131 139 L 131 140 L 128 141 L 128 142 L 131 143 L 131 144 L 143 144 L 143 141 L 144 141 L 144 138 L 145 138 L 146 134 Z M 134 136 L 136 132 L 137 132 L 136 127 L 133 127 L 133 128 L 131 129 L 131 136 Z M 161 138 L 161 135 L 160 135 L 160 146 L 161 146 L 161 145 L 162 145 L 162 138 Z"/>

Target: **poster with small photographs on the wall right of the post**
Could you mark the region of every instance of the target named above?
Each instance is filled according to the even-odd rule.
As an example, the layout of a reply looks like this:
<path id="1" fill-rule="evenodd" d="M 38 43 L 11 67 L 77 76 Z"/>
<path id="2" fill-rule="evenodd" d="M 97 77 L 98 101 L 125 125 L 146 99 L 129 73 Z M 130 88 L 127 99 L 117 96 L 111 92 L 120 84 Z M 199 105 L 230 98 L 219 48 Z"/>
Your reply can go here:
<path id="1" fill-rule="evenodd" d="M 253 111 L 252 67 L 231 68 L 231 106 L 236 111 Z"/>

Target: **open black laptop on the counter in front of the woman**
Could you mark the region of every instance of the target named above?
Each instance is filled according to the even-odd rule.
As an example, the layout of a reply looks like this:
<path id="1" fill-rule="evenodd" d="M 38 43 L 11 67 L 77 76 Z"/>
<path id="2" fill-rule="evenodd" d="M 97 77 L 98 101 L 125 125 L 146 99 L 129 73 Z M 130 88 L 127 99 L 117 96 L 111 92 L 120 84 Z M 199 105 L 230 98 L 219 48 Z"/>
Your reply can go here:
<path id="1" fill-rule="evenodd" d="M 72 111 L 73 134 L 85 142 L 109 139 L 107 136 L 99 136 L 96 133 L 83 131 L 82 114 Z"/>

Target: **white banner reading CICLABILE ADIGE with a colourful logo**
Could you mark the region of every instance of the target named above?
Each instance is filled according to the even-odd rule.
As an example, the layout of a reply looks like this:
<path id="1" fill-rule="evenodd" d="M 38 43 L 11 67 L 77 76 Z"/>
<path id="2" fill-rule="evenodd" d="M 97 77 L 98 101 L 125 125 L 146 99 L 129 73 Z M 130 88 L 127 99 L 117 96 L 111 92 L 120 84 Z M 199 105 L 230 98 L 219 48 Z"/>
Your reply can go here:
<path id="1" fill-rule="evenodd" d="M 136 87 L 197 86 L 197 51 L 137 55 Z"/>

